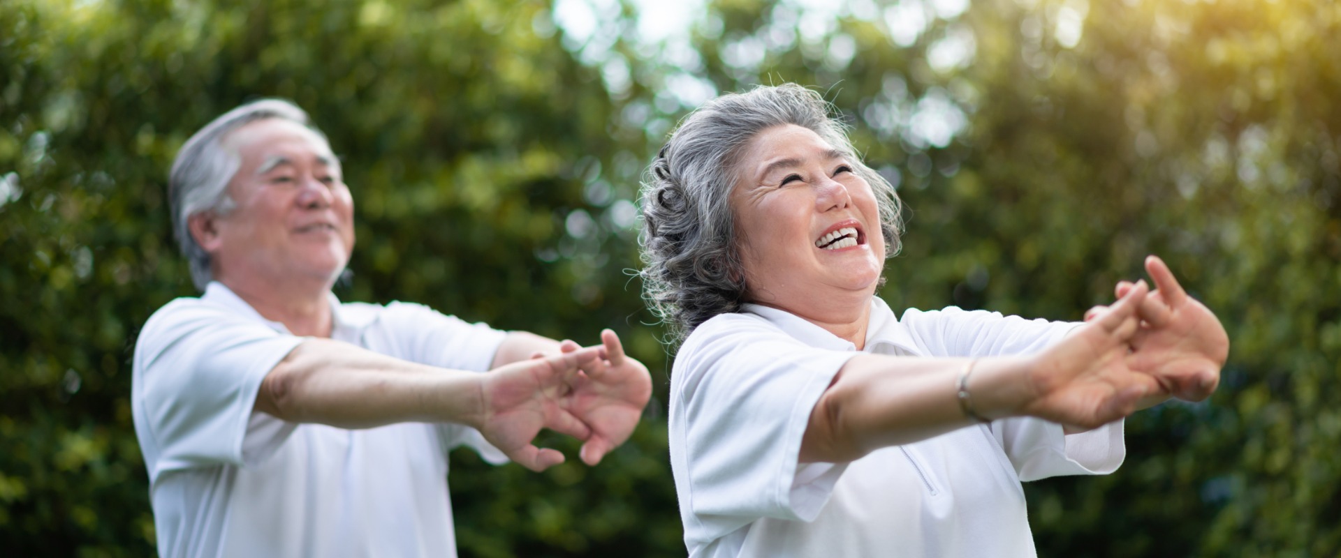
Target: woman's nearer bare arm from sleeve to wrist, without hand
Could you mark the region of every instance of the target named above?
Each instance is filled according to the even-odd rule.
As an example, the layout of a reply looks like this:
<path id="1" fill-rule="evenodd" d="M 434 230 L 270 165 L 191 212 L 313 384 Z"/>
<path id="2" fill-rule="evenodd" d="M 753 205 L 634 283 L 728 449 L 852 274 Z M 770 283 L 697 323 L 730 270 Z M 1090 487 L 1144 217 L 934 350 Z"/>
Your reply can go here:
<path id="1" fill-rule="evenodd" d="M 877 448 L 925 440 L 974 423 L 959 375 L 970 359 L 857 355 L 819 397 L 801 443 L 802 462 L 848 462 Z M 1023 357 L 978 359 L 970 373 L 974 411 L 1014 416 L 1033 393 Z"/>

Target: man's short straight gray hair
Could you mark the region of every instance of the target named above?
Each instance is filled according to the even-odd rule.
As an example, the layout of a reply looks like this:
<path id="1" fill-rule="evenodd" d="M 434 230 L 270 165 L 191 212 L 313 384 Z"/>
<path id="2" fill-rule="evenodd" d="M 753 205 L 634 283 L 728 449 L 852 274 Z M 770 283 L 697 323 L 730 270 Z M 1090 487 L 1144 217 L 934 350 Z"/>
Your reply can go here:
<path id="1" fill-rule="evenodd" d="M 205 124 L 181 146 L 172 163 L 172 173 L 168 175 L 172 229 L 182 256 L 190 264 L 190 278 L 200 290 L 205 290 L 213 274 L 209 270 L 209 253 L 190 236 L 190 217 L 201 211 L 224 215 L 233 210 L 228 182 L 241 167 L 241 155 L 225 147 L 224 139 L 233 130 L 268 118 L 296 122 L 326 139 L 308 120 L 307 112 L 296 104 L 282 99 L 261 99 L 233 108 Z"/>

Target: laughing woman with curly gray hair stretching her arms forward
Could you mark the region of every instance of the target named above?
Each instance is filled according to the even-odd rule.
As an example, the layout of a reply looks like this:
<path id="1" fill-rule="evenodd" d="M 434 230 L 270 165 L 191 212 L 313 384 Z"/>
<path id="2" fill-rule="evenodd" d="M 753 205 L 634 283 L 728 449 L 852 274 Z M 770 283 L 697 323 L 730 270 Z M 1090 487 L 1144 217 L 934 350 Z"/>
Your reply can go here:
<path id="1" fill-rule="evenodd" d="M 1199 400 L 1228 340 L 1157 258 L 1086 322 L 874 297 L 898 199 L 813 91 L 691 114 L 642 191 L 646 297 L 683 344 L 691 557 L 1031 557 L 1022 480 L 1108 474 L 1121 419 Z"/>

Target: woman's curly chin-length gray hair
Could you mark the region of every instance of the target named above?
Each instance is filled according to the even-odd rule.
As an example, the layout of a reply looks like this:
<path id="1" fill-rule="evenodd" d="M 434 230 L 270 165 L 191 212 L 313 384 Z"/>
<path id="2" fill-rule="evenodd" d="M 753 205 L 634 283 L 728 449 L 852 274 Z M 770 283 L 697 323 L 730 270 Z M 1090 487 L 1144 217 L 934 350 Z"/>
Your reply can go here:
<path id="1" fill-rule="evenodd" d="M 739 312 L 746 300 L 731 191 L 738 158 L 759 132 L 775 126 L 810 128 L 842 151 L 876 194 L 886 257 L 898 252 L 901 203 L 894 187 L 857 155 L 846 126 L 830 116 L 818 92 L 787 83 L 721 95 L 684 120 L 648 169 L 640 236 L 644 298 L 684 340 L 708 318 Z M 884 280 L 881 280 L 884 281 Z"/>

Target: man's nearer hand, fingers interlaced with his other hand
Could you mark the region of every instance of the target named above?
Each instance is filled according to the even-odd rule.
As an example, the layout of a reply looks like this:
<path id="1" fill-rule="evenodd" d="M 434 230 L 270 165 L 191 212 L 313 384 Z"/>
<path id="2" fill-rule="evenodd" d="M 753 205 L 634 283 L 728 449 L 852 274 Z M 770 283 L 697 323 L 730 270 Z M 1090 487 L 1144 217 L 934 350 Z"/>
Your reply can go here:
<path id="1" fill-rule="evenodd" d="M 489 371 L 480 384 L 481 412 L 472 426 L 508 459 L 526 468 L 543 471 L 563 463 L 563 454 L 538 448 L 531 442 L 540 428 L 579 440 L 591 438 L 591 428 L 569 407 L 573 384 L 581 381 L 582 367 L 597 363 L 601 351 L 601 347 L 574 348 Z"/>

